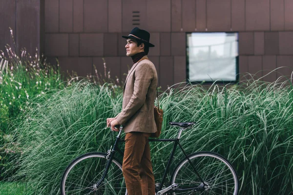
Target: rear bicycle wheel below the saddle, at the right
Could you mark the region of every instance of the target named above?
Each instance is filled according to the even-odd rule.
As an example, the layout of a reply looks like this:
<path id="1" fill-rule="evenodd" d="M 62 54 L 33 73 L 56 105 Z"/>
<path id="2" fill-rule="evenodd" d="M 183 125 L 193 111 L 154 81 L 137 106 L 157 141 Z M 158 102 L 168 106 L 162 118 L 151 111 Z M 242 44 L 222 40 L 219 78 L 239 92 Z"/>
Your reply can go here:
<path id="1" fill-rule="evenodd" d="M 203 179 L 195 174 L 188 159 L 183 159 L 176 167 L 172 183 L 178 184 L 182 191 L 173 195 L 237 195 L 238 178 L 231 163 L 223 156 L 213 152 L 197 152 L 188 156 L 192 165 Z M 206 185 L 204 191 L 196 192 L 195 187 Z"/>

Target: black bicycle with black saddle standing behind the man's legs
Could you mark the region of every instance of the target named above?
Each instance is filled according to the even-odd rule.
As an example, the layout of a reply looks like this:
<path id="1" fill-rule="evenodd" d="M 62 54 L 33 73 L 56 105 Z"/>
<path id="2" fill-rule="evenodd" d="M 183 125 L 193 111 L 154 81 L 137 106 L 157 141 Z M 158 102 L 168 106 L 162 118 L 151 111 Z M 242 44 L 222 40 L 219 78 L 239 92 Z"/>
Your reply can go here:
<path id="1" fill-rule="evenodd" d="M 149 141 L 174 142 L 161 183 L 155 186 L 156 195 L 237 195 L 238 178 L 231 163 L 214 152 L 196 152 L 187 155 L 179 143 L 184 130 L 192 128 L 193 122 L 169 122 L 180 127 L 177 138 L 150 138 Z M 122 165 L 114 157 L 121 140 L 120 127 L 114 146 L 107 153 L 91 152 L 75 158 L 66 167 L 61 179 L 62 195 L 127 195 L 126 184 L 122 174 Z M 171 182 L 164 186 L 170 164 L 177 146 L 184 158 L 177 164 L 171 176 Z"/>

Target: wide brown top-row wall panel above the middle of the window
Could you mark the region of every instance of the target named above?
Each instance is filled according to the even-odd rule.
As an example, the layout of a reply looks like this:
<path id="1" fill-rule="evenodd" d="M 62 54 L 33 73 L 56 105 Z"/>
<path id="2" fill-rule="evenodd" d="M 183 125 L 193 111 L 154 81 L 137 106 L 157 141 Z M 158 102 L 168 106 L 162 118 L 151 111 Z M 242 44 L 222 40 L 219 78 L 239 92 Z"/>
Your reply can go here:
<path id="1" fill-rule="evenodd" d="M 207 1 L 208 31 L 230 31 L 231 6 L 230 0 Z"/>

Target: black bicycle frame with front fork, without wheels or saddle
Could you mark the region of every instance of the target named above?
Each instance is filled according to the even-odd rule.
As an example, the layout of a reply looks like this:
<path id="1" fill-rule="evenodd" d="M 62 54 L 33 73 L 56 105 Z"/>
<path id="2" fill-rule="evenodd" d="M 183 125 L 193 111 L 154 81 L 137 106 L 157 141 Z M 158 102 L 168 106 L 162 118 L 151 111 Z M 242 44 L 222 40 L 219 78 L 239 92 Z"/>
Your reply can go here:
<path id="1" fill-rule="evenodd" d="M 121 133 L 121 131 L 120 131 L 120 133 Z M 124 154 L 124 153 L 118 148 L 118 142 L 125 142 L 125 140 L 121 140 L 121 138 L 120 138 L 120 133 L 119 133 L 119 135 L 118 135 L 117 138 L 116 138 L 116 141 L 115 141 L 115 143 L 114 143 L 113 149 L 110 150 L 110 155 L 109 155 L 109 158 L 108 158 L 108 162 L 107 162 L 107 164 L 106 164 L 106 167 L 105 167 L 105 172 L 104 172 L 102 178 L 98 181 L 98 183 L 97 183 L 97 185 L 96 185 L 97 187 L 99 187 L 99 185 L 104 181 L 105 176 L 107 175 L 107 172 L 108 172 L 108 170 L 109 170 L 109 167 L 110 167 L 110 164 L 111 164 L 111 162 L 112 162 L 112 159 L 113 159 L 113 157 L 114 157 L 115 152 L 118 151 L 120 154 L 122 154 L 122 155 Z M 161 141 L 161 142 L 175 142 L 175 143 L 174 143 L 174 146 L 173 146 L 172 153 L 171 153 L 171 155 L 170 155 L 170 157 L 169 157 L 169 160 L 168 160 L 168 163 L 167 163 L 167 167 L 166 167 L 166 169 L 165 169 L 165 173 L 164 173 L 163 178 L 162 178 L 162 181 L 161 181 L 161 183 L 160 183 L 159 189 L 156 189 L 157 192 L 159 192 L 159 191 L 162 190 L 162 187 L 163 187 L 163 184 L 164 184 L 164 182 L 165 182 L 165 179 L 166 179 L 167 173 L 168 173 L 168 171 L 169 171 L 169 168 L 170 168 L 171 162 L 172 162 L 173 157 L 174 157 L 174 155 L 175 155 L 175 151 L 176 151 L 177 145 L 179 145 L 179 147 L 180 147 L 180 149 L 182 150 L 184 156 L 188 159 L 188 162 L 189 162 L 190 165 L 192 166 L 192 168 L 193 168 L 195 174 L 198 176 L 198 178 L 200 179 L 200 181 L 203 183 L 203 186 L 200 186 L 200 187 L 188 187 L 188 188 L 184 188 L 184 189 L 177 188 L 177 189 L 174 189 L 174 190 L 169 190 L 168 192 L 178 192 L 178 191 L 182 191 L 182 192 L 184 192 L 184 191 L 189 191 L 189 190 L 193 190 L 193 191 L 197 192 L 197 191 L 204 191 L 204 190 L 205 190 L 205 187 L 204 187 L 204 186 L 207 186 L 207 184 L 205 184 L 205 182 L 204 182 L 204 180 L 202 179 L 202 177 L 198 174 L 198 172 L 196 171 L 195 167 L 194 167 L 193 164 L 191 163 L 191 161 L 190 161 L 188 155 L 185 153 L 184 149 L 183 149 L 182 146 L 180 145 L 180 143 L 179 143 L 179 140 L 180 140 L 180 139 L 178 139 L 178 138 L 176 138 L 176 139 L 152 139 L 152 138 L 151 138 L 151 139 L 148 139 L 148 140 L 149 140 L 150 142 L 159 142 L 159 141 Z"/>

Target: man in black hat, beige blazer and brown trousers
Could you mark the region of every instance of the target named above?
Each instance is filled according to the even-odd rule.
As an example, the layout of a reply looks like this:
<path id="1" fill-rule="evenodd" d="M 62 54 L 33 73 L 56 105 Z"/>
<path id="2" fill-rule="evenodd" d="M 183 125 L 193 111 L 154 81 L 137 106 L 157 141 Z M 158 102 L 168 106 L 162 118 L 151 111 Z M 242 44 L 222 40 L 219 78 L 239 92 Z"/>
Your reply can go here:
<path id="1" fill-rule="evenodd" d="M 133 60 L 123 89 L 122 111 L 114 118 L 107 118 L 107 126 L 118 131 L 123 125 L 126 133 L 123 157 L 123 175 L 128 195 L 155 195 L 155 181 L 150 160 L 148 137 L 156 132 L 154 101 L 157 89 L 157 72 L 147 59 L 149 33 L 137 27 L 126 39 L 126 56 Z"/>

